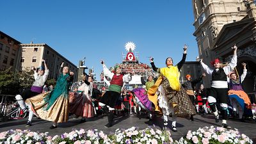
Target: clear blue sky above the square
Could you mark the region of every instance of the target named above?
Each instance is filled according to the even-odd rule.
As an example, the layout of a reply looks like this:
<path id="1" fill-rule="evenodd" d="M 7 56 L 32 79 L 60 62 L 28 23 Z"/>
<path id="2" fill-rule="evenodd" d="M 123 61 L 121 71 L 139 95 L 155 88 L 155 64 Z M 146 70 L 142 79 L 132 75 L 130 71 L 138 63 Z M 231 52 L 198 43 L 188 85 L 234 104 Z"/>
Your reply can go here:
<path id="1" fill-rule="evenodd" d="M 186 61 L 198 56 L 188 0 L 4 1 L 1 12 L 1 31 L 23 44 L 50 45 L 75 65 L 86 56 L 98 80 L 100 60 L 108 67 L 121 63 L 129 41 L 142 63 L 153 56 L 157 67 L 164 67 L 167 57 L 178 63 L 184 44 Z"/>

